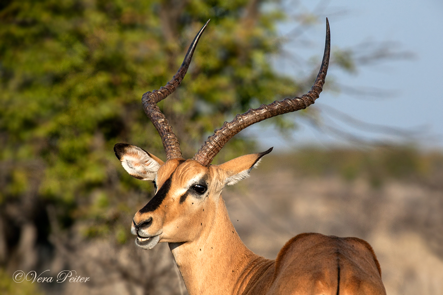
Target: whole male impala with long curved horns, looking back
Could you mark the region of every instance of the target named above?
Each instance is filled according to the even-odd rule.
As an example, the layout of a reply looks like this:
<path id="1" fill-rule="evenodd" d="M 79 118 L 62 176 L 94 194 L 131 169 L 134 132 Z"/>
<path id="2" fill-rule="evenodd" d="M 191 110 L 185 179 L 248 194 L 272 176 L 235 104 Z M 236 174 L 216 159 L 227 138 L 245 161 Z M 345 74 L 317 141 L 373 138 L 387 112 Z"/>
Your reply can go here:
<path id="1" fill-rule="evenodd" d="M 242 129 L 266 118 L 305 109 L 318 98 L 329 63 L 327 19 L 323 61 L 307 94 L 237 115 L 216 130 L 192 159 L 185 160 L 157 103 L 180 85 L 206 25 L 195 36 L 172 80 L 142 97 L 145 113 L 161 136 L 166 162 L 128 144 L 114 148 L 131 176 L 153 180 L 156 186 L 154 198 L 132 220 L 135 243 L 151 249 L 158 242 L 168 242 L 190 295 L 386 294 L 380 265 L 364 240 L 301 234 L 285 244 L 276 260 L 260 257 L 243 244 L 229 220 L 221 191 L 225 185 L 248 177 L 272 148 L 211 165 L 223 145 Z"/>

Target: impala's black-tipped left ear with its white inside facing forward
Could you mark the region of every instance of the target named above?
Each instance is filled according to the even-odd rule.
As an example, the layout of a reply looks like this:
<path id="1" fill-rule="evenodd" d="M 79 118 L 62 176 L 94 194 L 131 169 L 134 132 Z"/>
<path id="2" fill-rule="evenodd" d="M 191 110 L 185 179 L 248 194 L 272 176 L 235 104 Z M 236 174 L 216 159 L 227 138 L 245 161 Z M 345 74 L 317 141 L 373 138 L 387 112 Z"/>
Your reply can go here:
<path id="1" fill-rule="evenodd" d="M 115 155 L 130 176 L 141 180 L 154 180 L 163 161 L 142 148 L 128 144 L 114 146 Z"/>

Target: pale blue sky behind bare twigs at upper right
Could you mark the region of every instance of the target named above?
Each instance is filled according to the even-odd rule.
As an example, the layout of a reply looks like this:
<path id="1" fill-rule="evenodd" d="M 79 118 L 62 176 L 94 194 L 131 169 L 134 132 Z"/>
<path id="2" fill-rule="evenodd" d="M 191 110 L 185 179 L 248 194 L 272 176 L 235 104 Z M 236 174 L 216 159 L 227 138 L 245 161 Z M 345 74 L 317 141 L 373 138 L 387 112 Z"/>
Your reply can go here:
<path id="1" fill-rule="evenodd" d="M 389 128 L 404 130 L 413 134 L 412 140 L 422 148 L 443 149 L 443 1 L 301 0 L 291 3 L 298 3 L 291 6 L 294 13 L 312 11 L 319 3 L 327 3 L 320 15 L 329 19 L 332 47 L 347 48 L 368 41 L 393 42 L 394 51 L 413 54 L 411 59 L 361 66 L 356 74 L 330 68 L 328 74 L 341 85 L 380 89 L 389 95 L 369 97 L 324 92 L 315 104 L 323 114 L 324 124 L 372 141 L 407 142 L 409 138 L 389 133 Z M 309 39 L 309 46 L 286 49 L 305 59 L 322 54 L 324 26 L 324 21 L 318 23 L 299 37 Z M 291 29 L 290 25 L 285 25 L 280 31 L 285 35 Z M 301 69 L 293 70 L 294 75 L 301 72 Z M 331 107 L 369 123 L 376 130 L 378 126 L 388 127 L 388 132 L 365 132 L 363 128 L 348 126 L 337 119 Z M 306 144 L 349 144 L 334 133 L 320 132 L 303 120 L 298 122 L 300 128 L 291 139 L 284 139 L 274 130 L 265 128 L 268 138 L 262 139 L 260 146 L 271 145 L 284 150 Z M 258 134 L 263 134 L 263 124 L 247 133 L 249 136 Z"/>

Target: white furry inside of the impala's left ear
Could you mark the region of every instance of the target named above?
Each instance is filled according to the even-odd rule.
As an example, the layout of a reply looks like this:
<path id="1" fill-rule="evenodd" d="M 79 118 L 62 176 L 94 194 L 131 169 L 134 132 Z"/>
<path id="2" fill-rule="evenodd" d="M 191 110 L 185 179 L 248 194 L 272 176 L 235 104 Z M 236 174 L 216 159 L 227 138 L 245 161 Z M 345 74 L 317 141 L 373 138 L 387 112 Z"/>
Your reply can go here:
<path id="1" fill-rule="evenodd" d="M 154 180 L 160 164 L 141 148 L 133 148 L 122 159 L 122 166 L 132 177 L 141 180 Z"/>

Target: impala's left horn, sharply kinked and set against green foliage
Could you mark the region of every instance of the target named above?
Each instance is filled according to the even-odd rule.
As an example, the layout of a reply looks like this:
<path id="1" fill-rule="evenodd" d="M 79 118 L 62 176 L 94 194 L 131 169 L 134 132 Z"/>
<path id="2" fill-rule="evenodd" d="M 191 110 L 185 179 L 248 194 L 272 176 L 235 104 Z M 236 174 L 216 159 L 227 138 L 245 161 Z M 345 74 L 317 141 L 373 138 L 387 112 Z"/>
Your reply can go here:
<path id="1" fill-rule="evenodd" d="M 201 34 L 205 30 L 210 20 L 198 31 L 194 40 L 192 41 L 188 53 L 183 59 L 183 63 L 178 69 L 177 73 L 172 77 L 164 87 L 158 90 L 148 91 L 142 96 L 143 109 L 145 110 L 146 116 L 150 118 L 154 126 L 156 127 L 158 134 L 161 137 L 164 150 L 166 152 L 167 159 L 175 159 L 182 157 L 182 151 L 180 149 L 180 144 L 178 142 L 177 136 L 172 132 L 172 127 L 169 125 L 168 120 L 165 118 L 164 114 L 161 113 L 157 106 L 157 103 L 165 99 L 169 94 L 175 91 L 177 87 L 182 82 L 183 78 L 188 71 L 192 55 L 194 53 L 195 47 L 197 46 L 198 39 L 200 39 Z"/>

